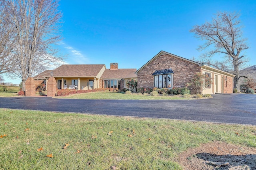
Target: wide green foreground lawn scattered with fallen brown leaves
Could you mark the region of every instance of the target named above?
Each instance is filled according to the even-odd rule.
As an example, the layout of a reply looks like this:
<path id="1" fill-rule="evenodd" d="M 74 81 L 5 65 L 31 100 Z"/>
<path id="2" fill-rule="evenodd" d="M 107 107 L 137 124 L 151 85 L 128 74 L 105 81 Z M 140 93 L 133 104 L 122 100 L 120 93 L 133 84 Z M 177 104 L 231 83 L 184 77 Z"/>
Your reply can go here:
<path id="1" fill-rule="evenodd" d="M 256 147 L 255 126 L 14 109 L 0 113 L 0 169 L 181 170 L 178 154 L 202 143 Z"/>

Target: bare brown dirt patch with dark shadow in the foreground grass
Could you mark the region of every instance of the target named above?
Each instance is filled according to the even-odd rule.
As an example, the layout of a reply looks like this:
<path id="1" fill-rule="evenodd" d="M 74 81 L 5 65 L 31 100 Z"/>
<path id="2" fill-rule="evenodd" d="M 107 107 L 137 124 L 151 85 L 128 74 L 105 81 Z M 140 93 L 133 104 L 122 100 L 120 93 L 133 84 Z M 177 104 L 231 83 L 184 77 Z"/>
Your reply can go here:
<path id="1" fill-rule="evenodd" d="M 184 170 L 256 170 L 256 148 L 214 141 L 182 152 L 177 161 Z"/>

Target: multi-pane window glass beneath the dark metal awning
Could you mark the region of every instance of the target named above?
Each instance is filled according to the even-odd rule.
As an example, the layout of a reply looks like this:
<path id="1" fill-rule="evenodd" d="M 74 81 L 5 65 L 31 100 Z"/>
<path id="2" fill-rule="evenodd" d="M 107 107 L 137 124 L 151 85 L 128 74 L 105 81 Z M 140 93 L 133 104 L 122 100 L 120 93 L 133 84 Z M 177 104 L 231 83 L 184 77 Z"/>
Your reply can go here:
<path id="1" fill-rule="evenodd" d="M 154 87 L 172 88 L 172 74 L 154 76 Z"/>

